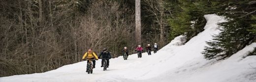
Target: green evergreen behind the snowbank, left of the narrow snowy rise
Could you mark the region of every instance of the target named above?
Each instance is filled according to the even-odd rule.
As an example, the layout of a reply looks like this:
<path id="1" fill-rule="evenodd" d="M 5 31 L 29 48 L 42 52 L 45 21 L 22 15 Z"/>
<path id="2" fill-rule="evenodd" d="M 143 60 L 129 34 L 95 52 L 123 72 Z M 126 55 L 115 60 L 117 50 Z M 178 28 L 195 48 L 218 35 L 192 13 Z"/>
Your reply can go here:
<path id="1" fill-rule="evenodd" d="M 189 40 L 203 31 L 203 27 L 206 24 L 203 15 L 208 13 L 206 11 L 208 11 L 207 9 L 210 7 L 209 2 L 201 0 L 176 0 L 171 4 L 173 6 L 169 7 L 174 9 L 174 11 L 169 19 L 171 26 L 169 39 L 183 34 L 186 35 Z"/>

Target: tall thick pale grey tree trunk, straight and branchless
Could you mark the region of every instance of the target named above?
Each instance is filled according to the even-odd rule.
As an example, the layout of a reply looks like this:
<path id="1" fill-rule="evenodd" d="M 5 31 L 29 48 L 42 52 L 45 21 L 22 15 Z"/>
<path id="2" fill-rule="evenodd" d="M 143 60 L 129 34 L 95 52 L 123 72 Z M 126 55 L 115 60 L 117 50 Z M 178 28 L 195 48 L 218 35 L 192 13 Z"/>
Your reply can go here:
<path id="1" fill-rule="evenodd" d="M 140 19 L 140 0 L 135 0 L 135 39 L 136 45 L 141 45 L 141 19 Z"/>

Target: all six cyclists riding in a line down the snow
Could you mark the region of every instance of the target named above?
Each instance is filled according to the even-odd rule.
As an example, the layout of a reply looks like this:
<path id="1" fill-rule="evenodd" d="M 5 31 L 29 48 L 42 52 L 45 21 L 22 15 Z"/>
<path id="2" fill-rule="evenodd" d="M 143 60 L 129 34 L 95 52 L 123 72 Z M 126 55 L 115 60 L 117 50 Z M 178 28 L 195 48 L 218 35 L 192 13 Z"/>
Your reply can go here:
<path id="1" fill-rule="evenodd" d="M 153 48 L 154 48 L 154 53 L 156 53 L 158 51 L 158 45 L 157 43 L 154 44 Z M 147 50 L 147 53 L 148 55 L 151 55 L 151 51 L 152 51 L 152 47 L 150 46 L 150 44 L 147 45 L 146 47 L 146 50 Z M 138 47 L 135 49 L 135 51 L 137 51 L 138 53 L 138 57 L 142 57 L 141 56 L 141 53 L 143 52 L 143 48 L 141 47 L 141 45 L 138 45 Z M 122 50 L 122 54 L 126 54 L 127 57 L 128 57 L 128 49 L 127 47 L 124 47 L 124 49 Z M 140 54 L 140 56 L 139 56 Z M 102 56 L 102 57 L 101 57 Z M 100 67 L 103 67 L 103 59 L 106 59 L 107 63 L 107 67 L 109 66 L 109 59 L 112 58 L 112 56 L 110 55 L 110 53 L 107 51 L 107 49 L 103 49 L 103 51 L 97 56 L 96 53 L 94 53 L 92 51 L 92 49 L 89 49 L 88 52 L 86 52 L 84 55 L 83 55 L 83 60 L 86 60 L 87 59 L 92 59 L 92 62 L 93 62 L 93 68 L 95 68 L 95 65 L 96 65 L 96 61 L 95 60 L 98 60 L 99 58 L 102 58 L 101 60 L 101 66 Z M 89 60 L 87 60 L 87 64 L 89 63 Z M 87 70 L 86 70 L 87 72 Z"/>

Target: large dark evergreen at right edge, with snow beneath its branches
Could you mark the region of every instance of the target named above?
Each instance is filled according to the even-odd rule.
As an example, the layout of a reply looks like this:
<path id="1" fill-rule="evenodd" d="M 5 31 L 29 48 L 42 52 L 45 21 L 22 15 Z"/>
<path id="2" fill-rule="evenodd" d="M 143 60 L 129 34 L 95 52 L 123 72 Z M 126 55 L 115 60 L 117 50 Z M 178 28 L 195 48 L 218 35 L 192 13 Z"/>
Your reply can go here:
<path id="1" fill-rule="evenodd" d="M 217 0 L 213 4 L 216 12 L 223 15 L 228 22 L 219 24 L 222 27 L 220 28 L 222 32 L 215 35 L 213 41 L 207 42 L 209 46 L 205 47 L 202 54 L 207 59 L 216 58 L 219 60 L 235 54 L 255 41 L 255 34 L 249 31 L 254 26 L 253 16 L 247 13 L 255 10 L 256 6 L 255 3 L 251 4 L 249 0 Z"/>

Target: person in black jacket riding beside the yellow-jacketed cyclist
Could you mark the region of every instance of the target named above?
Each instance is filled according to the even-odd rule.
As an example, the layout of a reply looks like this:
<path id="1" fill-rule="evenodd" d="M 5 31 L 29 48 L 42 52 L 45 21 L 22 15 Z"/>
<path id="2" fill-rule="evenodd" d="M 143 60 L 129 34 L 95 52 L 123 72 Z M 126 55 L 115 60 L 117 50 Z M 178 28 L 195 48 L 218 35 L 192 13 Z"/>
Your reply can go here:
<path id="1" fill-rule="evenodd" d="M 100 57 L 102 55 L 102 57 Z M 110 53 L 107 51 L 107 49 L 103 49 L 103 52 L 100 53 L 100 55 L 98 55 L 98 58 L 104 58 L 107 60 L 107 67 L 109 66 L 109 59 L 111 58 Z M 101 59 L 101 66 L 103 67 L 103 59 Z"/>

